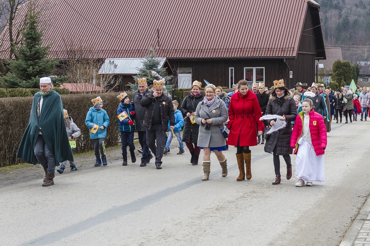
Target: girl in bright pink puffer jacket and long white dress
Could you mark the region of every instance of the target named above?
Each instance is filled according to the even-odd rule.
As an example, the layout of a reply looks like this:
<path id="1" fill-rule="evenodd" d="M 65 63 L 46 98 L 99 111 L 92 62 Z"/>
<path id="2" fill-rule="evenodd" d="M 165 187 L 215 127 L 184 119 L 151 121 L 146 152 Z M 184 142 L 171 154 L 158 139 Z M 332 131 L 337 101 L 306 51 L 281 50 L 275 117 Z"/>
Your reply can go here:
<path id="1" fill-rule="evenodd" d="M 300 187 L 307 182 L 324 182 L 324 153 L 327 145 L 327 133 L 323 116 L 313 110 L 310 99 L 302 102 L 302 112 L 296 116 L 291 148 L 295 148 L 296 186 Z"/>

